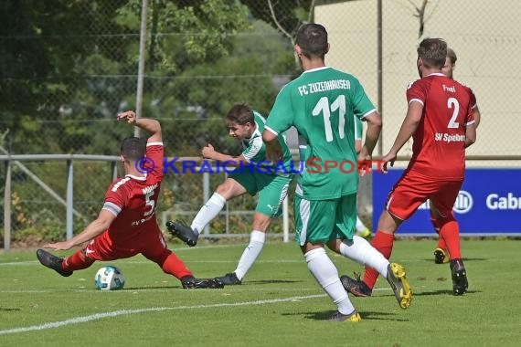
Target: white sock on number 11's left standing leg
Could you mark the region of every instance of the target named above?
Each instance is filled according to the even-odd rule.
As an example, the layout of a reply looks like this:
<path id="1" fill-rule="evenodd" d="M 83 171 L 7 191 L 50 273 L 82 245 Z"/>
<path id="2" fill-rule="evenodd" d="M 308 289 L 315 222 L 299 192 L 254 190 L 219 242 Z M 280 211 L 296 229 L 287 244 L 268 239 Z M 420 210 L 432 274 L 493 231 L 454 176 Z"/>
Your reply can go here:
<path id="1" fill-rule="evenodd" d="M 338 311 L 342 314 L 351 314 L 355 307 L 347 296 L 346 289 L 338 278 L 338 270 L 333 261 L 325 253 L 324 248 L 315 248 L 304 254 L 307 268 L 314 278 L 325 290 L 327 295 L 335 302 Z"/>

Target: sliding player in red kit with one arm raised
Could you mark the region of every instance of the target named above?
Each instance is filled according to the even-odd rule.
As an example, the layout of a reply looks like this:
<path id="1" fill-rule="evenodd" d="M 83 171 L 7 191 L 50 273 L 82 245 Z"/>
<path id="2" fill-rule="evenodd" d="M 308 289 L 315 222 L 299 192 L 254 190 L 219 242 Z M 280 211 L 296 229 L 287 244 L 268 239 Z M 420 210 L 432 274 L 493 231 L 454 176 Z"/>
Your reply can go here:
<path id="1" fill-rule="evenodd" d="M 69 258 L 37 250 L 40 263 L 68 277 L 73 271 L 89 268 L 94 261 L 131 258 L 143 254 L 165 273 L 180 279 L 185 289 L 223 288 L 217 279 L 196 279 L 183 261 L 166 247 L 155 216 L 163 179 L 163 142 L 159 121 L 136 119 L 132 110 L 120 113 L 119 121 L 137 126 L 150 134 L 148 140 L 129 137 L 122 141 L 121 157 L 125 176 L 109 186 L 96 220 L 67 241 L 44 245 L 66 250 L 82 245 Z"/>

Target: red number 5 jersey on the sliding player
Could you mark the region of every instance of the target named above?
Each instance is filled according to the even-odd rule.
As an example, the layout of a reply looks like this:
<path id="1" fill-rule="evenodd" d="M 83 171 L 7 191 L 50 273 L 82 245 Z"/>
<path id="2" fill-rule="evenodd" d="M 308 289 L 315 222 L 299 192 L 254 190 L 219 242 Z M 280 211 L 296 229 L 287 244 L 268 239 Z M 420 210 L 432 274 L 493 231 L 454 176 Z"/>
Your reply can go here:
<path id="1" fill-rule="evenodd" d="M 154 235 L 155 239 L 160 232 L 155 210 L 163 179 L 163 152 L 163 142 L 148 142 L 145 160 L 141 162 L 145 176 L 127 174 L 112 182 L 107 190 L 103 209 L 116 216 L 108 233 L 120 246 L 129 246 L 135 239 L 144 240 L 146 235 Z"/>

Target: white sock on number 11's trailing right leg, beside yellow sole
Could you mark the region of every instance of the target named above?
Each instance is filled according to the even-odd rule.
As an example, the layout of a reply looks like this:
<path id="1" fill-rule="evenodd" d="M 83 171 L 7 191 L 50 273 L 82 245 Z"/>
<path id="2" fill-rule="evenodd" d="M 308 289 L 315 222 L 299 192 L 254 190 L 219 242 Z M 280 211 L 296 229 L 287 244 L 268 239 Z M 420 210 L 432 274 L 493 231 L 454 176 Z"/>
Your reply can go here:
<path id="1" fill-rule="evenodd" d="M 359 264 L 376 269 L 384 278 L 388 276 L 388 259 L 378 252 L 377 248 L 372 247 L 364 237 L 355 235 L 353 241 L 344 240 L 340 244 L 340 254 Z"/>

